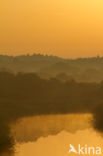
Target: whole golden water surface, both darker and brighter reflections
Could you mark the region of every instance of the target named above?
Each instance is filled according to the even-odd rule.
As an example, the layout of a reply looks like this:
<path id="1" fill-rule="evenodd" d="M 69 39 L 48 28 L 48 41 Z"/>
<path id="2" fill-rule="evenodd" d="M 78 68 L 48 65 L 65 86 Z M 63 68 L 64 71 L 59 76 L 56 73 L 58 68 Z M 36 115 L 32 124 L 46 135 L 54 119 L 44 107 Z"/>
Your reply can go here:
<path id="1" fill-rule="evenodd" d="M 91 114 L 25 117 L 12 124 L 15 156 L 68 156 L 69 144 L 103 147 L 103 138 L 91 125 Z"/>

